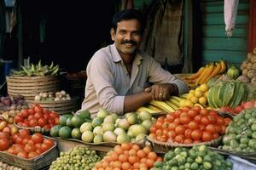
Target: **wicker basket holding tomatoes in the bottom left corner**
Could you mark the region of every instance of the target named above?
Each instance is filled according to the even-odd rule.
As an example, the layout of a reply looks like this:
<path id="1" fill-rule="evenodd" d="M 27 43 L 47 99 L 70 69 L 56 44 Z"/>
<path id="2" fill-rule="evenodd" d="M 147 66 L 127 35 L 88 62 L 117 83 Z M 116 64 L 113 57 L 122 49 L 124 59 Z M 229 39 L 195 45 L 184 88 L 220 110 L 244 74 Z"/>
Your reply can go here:
<path id="1" fill-rule="evenodd" d="M 36 156 L 32 159 L 23 159 L 15 155 L 11 155 L 7 152 L 0 151 L 0 160 L 4 161 L 10 165 L 21 167 L 26 170 L 38 170 L 44 167 L 48 167 L 52 161 L 59 156 L 59 152 L 57 150 L 57 143 L 55 145 L 44 152 L 44 154 L 40 156 Z"/>

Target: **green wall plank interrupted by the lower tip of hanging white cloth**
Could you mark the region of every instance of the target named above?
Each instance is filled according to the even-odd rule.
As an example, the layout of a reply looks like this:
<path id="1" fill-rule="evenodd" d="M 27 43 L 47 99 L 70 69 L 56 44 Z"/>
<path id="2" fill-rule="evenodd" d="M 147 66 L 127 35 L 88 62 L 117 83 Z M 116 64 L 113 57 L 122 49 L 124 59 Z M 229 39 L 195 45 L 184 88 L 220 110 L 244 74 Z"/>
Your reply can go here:
<path id="1" fill-rule="evenodd" d="M 232 32 L 232 37 L 247 37 L 248 26 L 236 26 Z M 225 33 L 225 26 L 203 26 L 203 37 L 227 37 Z"/>

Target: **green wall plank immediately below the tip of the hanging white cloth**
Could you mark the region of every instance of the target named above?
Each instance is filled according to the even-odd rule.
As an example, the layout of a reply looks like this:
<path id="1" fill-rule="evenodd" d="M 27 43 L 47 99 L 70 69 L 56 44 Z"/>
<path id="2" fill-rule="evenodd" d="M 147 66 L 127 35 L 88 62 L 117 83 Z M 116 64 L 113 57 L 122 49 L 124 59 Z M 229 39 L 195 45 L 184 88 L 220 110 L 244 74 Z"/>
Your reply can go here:
<path id="1" fill-rule="evenodd" d="M 247 38 L 238 38 L 238 37 L 202 38 L 202 46 L 203 46 L 202 47 L 203 49 L 246 51 Z"/>

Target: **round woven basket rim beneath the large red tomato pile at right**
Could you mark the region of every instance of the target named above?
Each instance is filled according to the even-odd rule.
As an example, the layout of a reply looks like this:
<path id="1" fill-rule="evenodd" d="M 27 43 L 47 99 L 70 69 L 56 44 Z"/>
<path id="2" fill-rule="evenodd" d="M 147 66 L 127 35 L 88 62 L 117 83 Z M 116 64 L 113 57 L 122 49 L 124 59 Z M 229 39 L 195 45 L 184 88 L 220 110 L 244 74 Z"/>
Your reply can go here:
<path id="1" fill-rule="evenodd" d="M 146 138 L 148 142 L 152 145 L 152 148 L 156 151 L 168 152 L 170 149 L 175 149 L 176 147 L 193 147 L 195 145 L 208 145 L 208 146 L 218 146 L 222 137 L 218 137 L 218 139 L 211 140 L 209 142 L 202 142 L 196 144 L 178 144 L 173 142 L 161 142 L 159 140 L 153 139 L 149 136 Z"/>

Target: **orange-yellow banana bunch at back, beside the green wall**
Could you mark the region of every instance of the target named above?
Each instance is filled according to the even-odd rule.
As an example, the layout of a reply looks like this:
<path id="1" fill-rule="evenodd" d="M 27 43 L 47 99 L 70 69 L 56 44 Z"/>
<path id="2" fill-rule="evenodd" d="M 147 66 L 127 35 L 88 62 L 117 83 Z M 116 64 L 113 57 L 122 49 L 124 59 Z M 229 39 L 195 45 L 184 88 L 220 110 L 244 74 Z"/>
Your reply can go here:
<path id="1" fill-rule="evenodd" d="M 207 82 L 210 78 L 217 76 L 218 74 L 224 73 L 226 71 L 227 65 L 223 59 L 219 62 L 212 62 L 206 66 L 201 67 L 195 74 L 189 77 L 184 77 L 184 80 L 189 83 L 194 83 L 199 85 Z"/>

